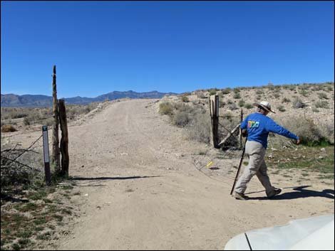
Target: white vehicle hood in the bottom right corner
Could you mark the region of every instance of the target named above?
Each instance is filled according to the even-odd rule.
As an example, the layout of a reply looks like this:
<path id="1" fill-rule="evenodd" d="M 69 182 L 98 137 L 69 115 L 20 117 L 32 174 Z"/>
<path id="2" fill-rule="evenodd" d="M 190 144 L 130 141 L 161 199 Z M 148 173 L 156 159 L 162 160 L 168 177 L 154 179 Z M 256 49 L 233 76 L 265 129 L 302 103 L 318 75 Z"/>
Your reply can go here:
<path id="1" fill-rule="evenodd" d="M 225 250 L 334 250 L 334 214 L 250 230 L 233 237 Z"/>

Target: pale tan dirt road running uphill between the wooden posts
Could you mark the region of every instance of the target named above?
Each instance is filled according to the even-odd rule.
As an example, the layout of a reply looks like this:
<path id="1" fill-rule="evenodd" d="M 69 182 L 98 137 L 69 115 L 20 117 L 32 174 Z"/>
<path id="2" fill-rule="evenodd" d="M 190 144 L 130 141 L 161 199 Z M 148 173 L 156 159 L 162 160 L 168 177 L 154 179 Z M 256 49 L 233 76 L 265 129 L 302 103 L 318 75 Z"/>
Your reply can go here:
<path id="1" fill-rule="evenodd" d="M 306 188 L 310 196 L 286 188 L 295 196 L 269 201 L 257 192 L 250 196 L 261 199 L 235 200 L 232 181 L 195 168 L 205 146 L 185 140 L 153 101 L 114 102 L 69 127 L 70 175 L 81 192 L 72 200 L 81 217 L 58 250 L 220 250 L 246 230 L 334 213 L 334 190 L 324 196 L 331 187 L 322 184 Z M 252 184 L 262 191 L 257 178 Z"/>

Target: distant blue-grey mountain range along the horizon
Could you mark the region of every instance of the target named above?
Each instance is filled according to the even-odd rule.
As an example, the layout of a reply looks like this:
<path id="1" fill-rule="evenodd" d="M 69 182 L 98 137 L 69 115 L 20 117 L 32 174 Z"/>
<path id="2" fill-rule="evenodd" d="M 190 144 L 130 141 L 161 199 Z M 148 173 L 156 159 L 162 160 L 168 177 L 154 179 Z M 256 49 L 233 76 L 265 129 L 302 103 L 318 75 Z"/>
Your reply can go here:
<path id="1" fill-rule="evenodd" d="M 87 105 L 91 102 L 103 102 L 105 100 L 118 100 L 124 97 L 132 99 L 156 99 L 165 95 L 176 95 L 173 92 L 108 92 L 98 97 L 68 97 L 64 98 L 66 104 L 69 105 Z M 58 97 L 59 99 L 59 97 Z M 1 107 L 50 107 L 52 105 L 52 97 L 46 95 L 15 95 L 1 94 Z"/>

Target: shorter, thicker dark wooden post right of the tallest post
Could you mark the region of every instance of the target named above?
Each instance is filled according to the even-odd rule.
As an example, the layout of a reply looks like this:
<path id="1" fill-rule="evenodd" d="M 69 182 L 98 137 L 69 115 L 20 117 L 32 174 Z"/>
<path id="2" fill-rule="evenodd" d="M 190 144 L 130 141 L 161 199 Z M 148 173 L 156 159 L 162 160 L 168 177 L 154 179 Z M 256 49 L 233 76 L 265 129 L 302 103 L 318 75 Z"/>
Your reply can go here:
<path id="1" fill-rule="evenodd" d="M 61 175 L 68 176 L 68 122 L 64 100 L 58 100 L 58 110 L 61 124 Z"/>

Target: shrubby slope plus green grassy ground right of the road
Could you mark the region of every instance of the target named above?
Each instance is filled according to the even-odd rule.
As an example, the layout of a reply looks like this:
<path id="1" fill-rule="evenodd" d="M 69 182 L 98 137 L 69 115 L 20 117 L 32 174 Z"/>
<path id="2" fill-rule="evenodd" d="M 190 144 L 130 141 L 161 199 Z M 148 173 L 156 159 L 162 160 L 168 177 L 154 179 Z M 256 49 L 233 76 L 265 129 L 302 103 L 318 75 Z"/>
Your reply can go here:
<path id="1" fill-rule="evenodd" d="M 254 112 L 253 102 L 269 100 L 277 112 L 270 116 L 301 139 L 301 145 L 297 146 L 291 139 L 270 134 L 267 151 L 271 153 L 271 158 L 267 159 L 269 166 L 284 176 L 292 176 L 287 173 L 292 169 L 302 171 L 299 181 L 309 180 L 309 175 L 313 175 L 321 182 L 334 183 L 334 82 L 300 85 L 269 83 L 261 87 L 196 90 L 187 95 L 187 104 L 173 97 L 164 98 L 159 112 L 168 115 L 175 126 L 184 128 L 189 140 L 211 144 L 210 95 L 219 95 L 220 99 L 220 140 L 239 124 L 241 109 L 245 118 Z M 238 150 L 238 147 L 237 131 L 225 142 L 221 151 L 223 154 L 227 149 Z"/>

